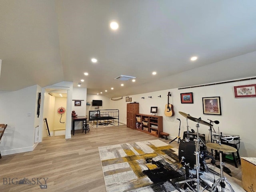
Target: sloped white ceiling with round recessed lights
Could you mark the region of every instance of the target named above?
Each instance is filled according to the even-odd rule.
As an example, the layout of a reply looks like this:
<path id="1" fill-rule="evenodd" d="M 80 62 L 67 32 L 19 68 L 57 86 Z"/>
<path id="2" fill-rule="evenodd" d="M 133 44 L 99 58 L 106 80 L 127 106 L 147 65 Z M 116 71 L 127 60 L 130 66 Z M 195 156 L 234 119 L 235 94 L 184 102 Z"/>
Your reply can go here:
<path id="1" fill-rule="evenodd" d="M 117 98 L 254 76 L 255 7 L 255 0 L 1 0 L 0 90 L 77 87 L 84 79 L 88 94 Z M 114 80 L 119 75 L 136 82 Z"/>

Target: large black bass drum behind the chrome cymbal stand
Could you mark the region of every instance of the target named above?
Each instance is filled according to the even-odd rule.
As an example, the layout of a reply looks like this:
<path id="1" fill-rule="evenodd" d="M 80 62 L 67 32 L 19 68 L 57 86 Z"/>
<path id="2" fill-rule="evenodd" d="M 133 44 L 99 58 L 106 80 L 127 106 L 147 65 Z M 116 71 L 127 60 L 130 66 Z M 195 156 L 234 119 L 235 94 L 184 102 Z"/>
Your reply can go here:
<path id="1" fill-rule="evenodd" d="M 200 148 L 200 150 L 205 150 L 204 146 Z M 195 155 L 195 151 L 196 151 L 196 145 L 194 141 L 188 141 L 186 142 L 185 139 L 182 139 L 180 141 L 180 146 L 179 146 L 179 161 L 181 161 L 182 157 L 184 157 L 185 159 L 182 161 L 182 165 L 184 165 L 185 163 L 189 163 L 189 167 L 191 169 L 194 168 L 194 165 L 196 164 L 196 155 Z M 200 157 L 199 158 L 199 163 L 200 163 L 200 169 L 201 170 L 205 170 L 204 166 L 203 166 L 203 159 Z"/>

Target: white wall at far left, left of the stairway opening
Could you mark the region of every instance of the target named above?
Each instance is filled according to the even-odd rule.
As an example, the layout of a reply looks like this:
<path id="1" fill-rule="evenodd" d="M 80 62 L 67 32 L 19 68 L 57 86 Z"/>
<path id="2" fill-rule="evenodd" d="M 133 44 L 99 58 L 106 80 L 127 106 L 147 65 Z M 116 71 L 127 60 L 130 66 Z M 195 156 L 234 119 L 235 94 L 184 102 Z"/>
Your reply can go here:
<path id="1" fill-rule="evenodd" d="M 32 151 L 37 145 L 34 144 L 34 132 L 39 124 L 36 113 L 40 90 L 35 85 L 18 91 L 0 92 L 0 122 L 8 124 L 0 144 L 2 155 Z"/>

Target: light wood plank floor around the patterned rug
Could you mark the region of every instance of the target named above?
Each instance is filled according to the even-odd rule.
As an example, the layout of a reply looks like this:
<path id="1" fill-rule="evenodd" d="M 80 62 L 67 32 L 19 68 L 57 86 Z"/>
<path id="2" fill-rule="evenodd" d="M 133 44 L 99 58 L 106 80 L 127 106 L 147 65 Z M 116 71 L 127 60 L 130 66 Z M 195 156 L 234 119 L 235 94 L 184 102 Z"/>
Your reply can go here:
<path id="1" fill-rule="evenodd" d="M 65 139 L 65 136 L 43 138 L 32 152 L 2 156 L 0 192 L 43 192 L 39 186 L 45 184 L 43 178 L 48 178 L 47 192 L 105 192 L 98 147 L 154 139 L 158 138 L 126 128 L 126 125 L 90 128 L 86 134 L 76 130 L 71 139 Z M 178 148 L 176 141 L 170 145 Z M 232 170 L 232 176 L 241 180 L 241 166 L 227 166 Z M 15 184 L 22 178 L 42 179 L 39 183 L 33 182 L 34 185 Z"/>

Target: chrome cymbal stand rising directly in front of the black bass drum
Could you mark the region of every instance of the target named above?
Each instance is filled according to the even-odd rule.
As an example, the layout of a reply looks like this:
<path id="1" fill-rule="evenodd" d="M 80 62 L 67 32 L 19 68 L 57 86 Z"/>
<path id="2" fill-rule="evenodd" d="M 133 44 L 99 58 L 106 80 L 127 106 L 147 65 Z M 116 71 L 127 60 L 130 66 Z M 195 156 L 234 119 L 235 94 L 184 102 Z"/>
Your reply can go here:
<path id="1" fill-rule="evenodd" d="M 202 187 L 201 187 L 200 180 L 199 180 L 199 170 L 200 170 L 200 162 L 199 162 L 200 149 L 199 149 L 199 139 L 198 139 L 198 138 L 199 138 L 199 134 L 198 134 L 199 124 L 196 124 L 196 128 L 197 128 L 197 138 L 194 139 L 195 145 L 196 145 L 196 152 L 195 152 L 195 155 L 196 155 L 196 165 L 195 165 L 195 169 L 196 169 L 196 178 L 192 178 L 192 179 L 188 179 L 188 180 L 176 182 L 175 184 L 181 184 L 181 183 L 186 183 L 186 184 L 188 184 L 188 182 L 196 181 L 196 187 L 197 187 L 197 190 L 196 190 L 196 191 L 190 186 L 190 184 L 188 184 L 188 186 L 189 186 L 194 192 L 202 192 L 202 189 L 201 189 Z"/>

